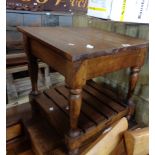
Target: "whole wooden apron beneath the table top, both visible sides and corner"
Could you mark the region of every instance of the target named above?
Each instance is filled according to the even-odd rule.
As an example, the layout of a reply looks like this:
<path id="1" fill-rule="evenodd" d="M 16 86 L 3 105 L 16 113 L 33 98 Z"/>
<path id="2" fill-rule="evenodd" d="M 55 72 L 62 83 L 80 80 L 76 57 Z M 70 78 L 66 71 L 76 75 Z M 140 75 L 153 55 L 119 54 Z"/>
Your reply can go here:
<path id="1" fill-rule="evenodd" d="M 76 81 L 76 79 L 73 79 L 75 77 L 78 78 L 78 81 L 80 81 L 79 78 L 88 80 L 127 67 L 141 67 L 144 64 L 146 48 L 131 49 L 119 54 L 72 62 L 57 54 L 51 47 L 31 39 L 31 53 L 64 75 L 68 79 L 66 82 L 69 84 L 71 81 Z M 74 76 L 75 72 L 76 76 Z M 85 74 L 82 72 L 85 72 Z M 84 77 L 81 77 L 83 75 Z"/>

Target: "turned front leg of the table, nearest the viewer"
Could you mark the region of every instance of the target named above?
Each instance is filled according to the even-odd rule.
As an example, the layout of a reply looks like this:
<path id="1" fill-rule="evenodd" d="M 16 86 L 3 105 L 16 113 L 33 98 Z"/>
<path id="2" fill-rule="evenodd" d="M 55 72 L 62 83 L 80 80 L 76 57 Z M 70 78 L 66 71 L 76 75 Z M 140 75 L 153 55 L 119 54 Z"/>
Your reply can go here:
<path id="1" fill-rule="evenodd" d="M 82 89 L 70 89 L 70 131 L 69 131 L 69 140 L 74 139 L 80 136 L 80 130 L 78 129 L 78 118 L 81 110 Z M 79 149 L 69 148 L 69 154 L 75 155 L 78 154 Z"/>

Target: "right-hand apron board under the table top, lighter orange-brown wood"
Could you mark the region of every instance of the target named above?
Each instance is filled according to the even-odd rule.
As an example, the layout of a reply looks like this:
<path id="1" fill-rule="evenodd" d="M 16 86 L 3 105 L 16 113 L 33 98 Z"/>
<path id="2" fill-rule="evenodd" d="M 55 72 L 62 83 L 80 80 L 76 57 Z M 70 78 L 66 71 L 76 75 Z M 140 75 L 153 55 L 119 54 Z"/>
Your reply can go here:
<path id="1" fill-rule="evenodd" d="M 87 60 L 87 79 L 127 67 L 141 67 L 144 64 L 146 49 L 122 52 Z"/>

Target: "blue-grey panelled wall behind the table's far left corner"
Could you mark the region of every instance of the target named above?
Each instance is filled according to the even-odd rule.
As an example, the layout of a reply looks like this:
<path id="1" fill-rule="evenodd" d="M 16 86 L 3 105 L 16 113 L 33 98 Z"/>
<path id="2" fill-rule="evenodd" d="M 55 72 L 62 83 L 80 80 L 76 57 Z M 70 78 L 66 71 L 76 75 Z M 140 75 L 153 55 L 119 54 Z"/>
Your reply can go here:
<path id="1" fill-rule="evenodd" d="M 72 25 L 72 15 L 69 13 L 7 10 L 6 11 L 7 53 L 8 54 L 10 54 L 11 52 L 18 53 L 22 49 L 22 47 L 19 46 L 19 44 L 21 44 L 22 42 L 22 34 L 17 31 L 17 26 L 71 26 L 71 25 Z"/>

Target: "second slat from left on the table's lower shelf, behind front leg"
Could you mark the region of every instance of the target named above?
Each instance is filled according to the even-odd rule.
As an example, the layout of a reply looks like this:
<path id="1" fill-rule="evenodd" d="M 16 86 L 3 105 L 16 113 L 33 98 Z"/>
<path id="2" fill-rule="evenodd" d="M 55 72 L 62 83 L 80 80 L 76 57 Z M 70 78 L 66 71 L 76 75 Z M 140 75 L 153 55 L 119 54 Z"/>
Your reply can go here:
<path id="1" fill-rule="evenodd" d="M 66 98 L 59 94 L 56 90 L 51 89 L 46 91 L 46 94 L 57 104 L 59 107 L 69 116 L 69 103 Z M 82 128 L 85 132 L 94 128 L 95 123 L 90 121 L 83 113 L 80 113 L 79 117 L 79 127 Z"/>

